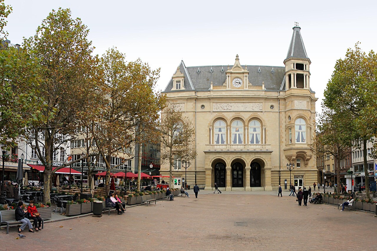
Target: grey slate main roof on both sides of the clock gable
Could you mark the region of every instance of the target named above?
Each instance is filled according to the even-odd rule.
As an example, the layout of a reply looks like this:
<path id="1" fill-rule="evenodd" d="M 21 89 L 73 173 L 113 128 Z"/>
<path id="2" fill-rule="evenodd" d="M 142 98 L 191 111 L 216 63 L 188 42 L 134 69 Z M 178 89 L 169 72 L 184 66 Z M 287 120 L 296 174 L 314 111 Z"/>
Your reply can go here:
<path id="1" fill-rule="evenodd" d="M 212 72 L 210 72 L 212 68 Z M 226 71 L 228 66 L 192 66 L 185 67 L 183 61 L 179 64 L 179 69 L 184 74 L 185 90 L 208 90 L 213 86 L 222 86 L 227 80 Z M 245 69 L 245 66 L 242 65 Z M 261 72 L 258 72 L 258 69 Z M 198 73 L 198 69 L 200 72 Z M 224 69 L 221 72 L 221 69 Z M 274 69 L 274 73 L 271 70 Z M 248 80 L 253 86 L 262 86 L 266 90 L 280 90 L 284 80 L 285 67 L 283 66 L 247 66 L 249 71 Z M 171 78 L 164 92 L 170 92 L 173 88 L 173 79 Z"/>

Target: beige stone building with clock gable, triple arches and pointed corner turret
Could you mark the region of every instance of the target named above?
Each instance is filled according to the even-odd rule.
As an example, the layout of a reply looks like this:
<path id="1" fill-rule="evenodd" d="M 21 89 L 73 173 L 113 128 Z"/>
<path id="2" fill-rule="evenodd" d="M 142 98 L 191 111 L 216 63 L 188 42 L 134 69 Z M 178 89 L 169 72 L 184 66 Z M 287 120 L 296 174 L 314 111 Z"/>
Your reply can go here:
<path id="1" fill-rule="evenodd" d="M 212 190 L 266 190 L 290 182 L 317 182 L 316 159 L 308 144 L 315 135 L 311 61 L 300 27 L 285 66 L 249 66 L 236 55 L 232 66 L 186 67 L 183 61 L 164 93 L 191 119 L 198 156 L 187 168 L 187 183 Z M 162 112 L 162 117 L 164 113 Z M 185 176 L 177 163 L 173 174 Z M 169 173 L 169 164 L 160 173 Z"/>

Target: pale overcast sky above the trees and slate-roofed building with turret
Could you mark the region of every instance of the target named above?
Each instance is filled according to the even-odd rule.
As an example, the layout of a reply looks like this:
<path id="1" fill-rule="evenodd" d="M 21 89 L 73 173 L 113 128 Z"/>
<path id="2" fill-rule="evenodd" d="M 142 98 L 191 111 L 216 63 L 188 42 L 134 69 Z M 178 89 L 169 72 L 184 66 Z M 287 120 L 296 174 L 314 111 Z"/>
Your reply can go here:
<path id="1" fill-rule="evenodd" d="M 291 2 L 291 3 L 290 3 Z M 21 44 L 52 9 L 70 8 L 90 29 L 102 55 L 116 46 L 152 68 L 161 68 L 164 89 L 179 62 L 186 66 L 241 64 L 284 66 L 294 22 L 299 22 L 311 60 L 317 111 L 337 59 L 361 42 L 377 50 L 377 1 L 14 1 L 8 39 Z"/>

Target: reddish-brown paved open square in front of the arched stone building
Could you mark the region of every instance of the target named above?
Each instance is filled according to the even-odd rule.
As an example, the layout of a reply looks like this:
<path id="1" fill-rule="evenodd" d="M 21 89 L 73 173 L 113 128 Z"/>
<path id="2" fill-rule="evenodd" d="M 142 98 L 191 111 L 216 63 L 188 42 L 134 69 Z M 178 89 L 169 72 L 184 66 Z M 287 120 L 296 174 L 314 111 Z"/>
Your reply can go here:
<path id="1" fill-rule="evenodd" d="M 374 214 L 340 212 L 330 205 L 299 207 L 295 200 L 199 192 L 198 199 L 178 196 L 129 208 L 123 215 L 48 223 L 38 233 L 24 233 L 24 239 L 15 239 L 17 228 L 9 234 L 2 229 L 0 249 L 374 250 Z"/>

